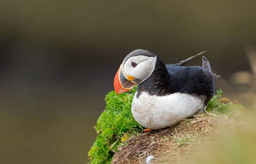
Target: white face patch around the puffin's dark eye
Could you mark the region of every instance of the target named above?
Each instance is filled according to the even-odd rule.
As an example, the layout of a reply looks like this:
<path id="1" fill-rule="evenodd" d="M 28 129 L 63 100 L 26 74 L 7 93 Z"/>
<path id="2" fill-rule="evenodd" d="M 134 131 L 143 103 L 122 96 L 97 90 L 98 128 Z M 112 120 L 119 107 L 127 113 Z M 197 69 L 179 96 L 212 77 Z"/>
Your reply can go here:
<path id="1" fill-rule="evenodd" d="M 132 62 L 137 64 L 136 67 L 132 67 Z M 133 76 L 135 79 L 143 82 L 146 80 L 155 69 L 156 56 L 148 57 L 144 55 L 132 56 L 126 60 L 124 65 L 125 76 Z"/>

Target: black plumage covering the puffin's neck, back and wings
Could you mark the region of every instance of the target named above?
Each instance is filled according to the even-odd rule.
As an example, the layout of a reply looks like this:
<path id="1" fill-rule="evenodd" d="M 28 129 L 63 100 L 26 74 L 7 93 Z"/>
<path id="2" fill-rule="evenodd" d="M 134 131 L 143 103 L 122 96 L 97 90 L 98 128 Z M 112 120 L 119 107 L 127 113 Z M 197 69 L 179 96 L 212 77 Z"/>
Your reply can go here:
<path id="1" fill-rule="evenodd" d="M 179 92 L 195 95 L 204 99 L 204 104 L 206 105 L 214 95 L 216 77 L 211 73 L 211 69 L 209 69 L 210 63 L 204 56 L 203 63 L 207 67 L 183 66 L 195 56 L 192 56 L 187 60 L 183 60 L 178 64 L 167 65 L 165 65 L 158 56 L 156 56 L 155 69 L 150 77 L 138 85 L 137 97 L 139 97 L 143 91 L 150 95 L 159 96 Z M 204 58 L 207 61 L 204 60 Z"/>

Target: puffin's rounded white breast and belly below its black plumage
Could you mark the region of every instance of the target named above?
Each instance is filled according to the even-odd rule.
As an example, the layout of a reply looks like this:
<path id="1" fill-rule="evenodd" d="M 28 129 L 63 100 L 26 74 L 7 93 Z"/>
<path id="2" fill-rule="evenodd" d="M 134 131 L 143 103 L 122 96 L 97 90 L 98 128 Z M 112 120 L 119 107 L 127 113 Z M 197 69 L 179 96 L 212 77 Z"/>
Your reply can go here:
<path id="1" fill-rule="evenodd" d="M 132 101 L 132 115 L 139 124 L 150 129 L 172 126 L 204 108 L 204 101 L 183 93 L 166 96 L 143 92 Z"/>

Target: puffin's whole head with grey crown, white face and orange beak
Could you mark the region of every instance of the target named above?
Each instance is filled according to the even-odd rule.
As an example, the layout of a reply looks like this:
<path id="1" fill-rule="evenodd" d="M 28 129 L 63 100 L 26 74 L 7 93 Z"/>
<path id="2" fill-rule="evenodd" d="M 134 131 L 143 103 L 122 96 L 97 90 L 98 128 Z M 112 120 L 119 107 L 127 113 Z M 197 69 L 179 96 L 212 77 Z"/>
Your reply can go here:
<path id="1" fill-rule="evenodd" d="M 115 75 L 114 88 L 117 95 L 131 90 L 150 77 L 156 66 L 156 58 L 156 55 L 144 49 L 129 53 Z"/>

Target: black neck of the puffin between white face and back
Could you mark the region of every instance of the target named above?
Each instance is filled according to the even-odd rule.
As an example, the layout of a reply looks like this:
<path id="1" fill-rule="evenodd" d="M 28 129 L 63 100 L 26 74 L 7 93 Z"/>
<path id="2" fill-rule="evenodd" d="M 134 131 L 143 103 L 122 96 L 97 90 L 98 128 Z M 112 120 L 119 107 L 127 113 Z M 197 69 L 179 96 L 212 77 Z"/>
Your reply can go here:
<path id="1" fill-rule="evenodd" d="M 153 73 L 145 81 L 138 85 L 138 94 L 147 92 L 150 95 L 166 95 L 169 90 L 170 75 L 163 61 L 157 57 Z"/>

